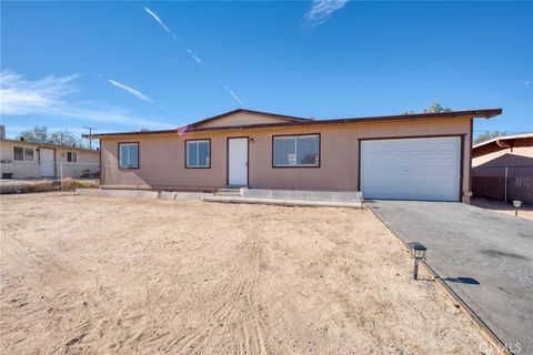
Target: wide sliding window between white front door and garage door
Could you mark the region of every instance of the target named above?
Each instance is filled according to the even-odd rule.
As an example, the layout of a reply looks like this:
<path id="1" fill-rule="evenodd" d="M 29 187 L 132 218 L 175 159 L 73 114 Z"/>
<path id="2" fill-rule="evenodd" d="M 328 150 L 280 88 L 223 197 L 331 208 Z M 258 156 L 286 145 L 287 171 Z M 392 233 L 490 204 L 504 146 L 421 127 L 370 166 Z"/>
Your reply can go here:
<path id="1" fill-rule="evenodd" d="M 320 166 L 320 135 L 283 135 L 273 138 L 274 168 Z"/>

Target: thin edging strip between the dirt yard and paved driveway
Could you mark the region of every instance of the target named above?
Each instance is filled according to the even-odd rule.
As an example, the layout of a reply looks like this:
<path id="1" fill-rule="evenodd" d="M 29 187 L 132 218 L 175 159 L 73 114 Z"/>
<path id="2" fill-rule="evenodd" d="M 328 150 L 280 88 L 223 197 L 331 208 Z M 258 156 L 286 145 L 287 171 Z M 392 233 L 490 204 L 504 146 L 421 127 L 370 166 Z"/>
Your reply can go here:
<path id="1" fill-rule="evenodd" d="M 369 210 L 370 213 L 372 213 L 378 219 L 378 221 L 380 221 L 380 223 L 389 232 L 391 232 L 392 235 L 396 237 L 396 240 L 403 245 L 403 247 L 405 247 L 405 250 L 411 253 L 409 245 L 405 242 L 403 242 L 402 239 L 396 235 L 396 233 L 394 233 L 391 229 L 386 226 L 386 224 L 381 220 L 381 217 L 378 214 L 375 214 L 374 211 L 372 211 L 372 207 L 365 207 L 365 209 Z M 470 308 L 469 305 L 464 303 L 464 301 L 444 281 L 442 281 L 441 276 L 439 276 L 439 274 L 433 268 L 431 268 L 431 266 L 428 265 L 425 261 L 422 261 L 420 265 L 428 272 L 428 274 L 430 274 L 433 277 L 433 280 L 441 287 L 441 290 L 444 291 L 444 294 L 450 300 L 452 300 L 455 304 L 459 305 L 459 308 L 463 312 L 463 314 L 465 314 L 466 317 L 469 317 L 470 321 L 477 326 L 477 328 L 481 331 L 485 339 L 492 344 L 492 346 L 497 352 L 497 354 L 513 355 L 513 353 L 507 348 L 505 343 L 503 343 L 497 337 L 497 335 L 494 334 L 494 332 L 492 332 L 492 329 L 483 322 L 483 320 L 481 320 L 480 316 L 477 316 L 477 314 L 475 314 L 475 312 L 472 308 Z"/>

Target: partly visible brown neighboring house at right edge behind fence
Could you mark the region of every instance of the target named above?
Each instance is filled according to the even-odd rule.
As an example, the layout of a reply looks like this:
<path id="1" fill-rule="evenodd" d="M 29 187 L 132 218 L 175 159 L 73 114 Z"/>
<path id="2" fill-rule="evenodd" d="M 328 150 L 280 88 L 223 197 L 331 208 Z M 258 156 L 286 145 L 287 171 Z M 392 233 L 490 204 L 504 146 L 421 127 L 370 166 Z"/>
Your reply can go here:
<path id="1" fill-rule="evenodd" d="M 475 144 L 472 156 L 474 195 L 533 204 L 533 133 Z"/>

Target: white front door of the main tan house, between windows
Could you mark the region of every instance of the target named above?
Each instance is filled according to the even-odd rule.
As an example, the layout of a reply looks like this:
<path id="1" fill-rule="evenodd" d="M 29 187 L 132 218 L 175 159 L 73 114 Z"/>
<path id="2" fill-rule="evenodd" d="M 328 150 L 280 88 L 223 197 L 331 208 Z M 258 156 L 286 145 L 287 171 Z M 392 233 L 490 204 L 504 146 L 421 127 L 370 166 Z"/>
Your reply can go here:
<path id="1" fill-rule="evenodd" d="M 228 184 L 248 185 L 248 138 L 228 139 Z"/>

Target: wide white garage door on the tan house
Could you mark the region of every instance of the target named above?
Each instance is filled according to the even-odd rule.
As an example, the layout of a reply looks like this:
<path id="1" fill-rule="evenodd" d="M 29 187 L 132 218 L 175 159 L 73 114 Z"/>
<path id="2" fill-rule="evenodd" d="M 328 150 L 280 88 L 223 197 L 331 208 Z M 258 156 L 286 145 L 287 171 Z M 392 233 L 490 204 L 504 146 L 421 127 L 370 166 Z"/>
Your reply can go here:
<path id="1" fill-rule="evenodd" d="M 457 201 L 459 136 L 361 142 L 365 199 Z"/>

